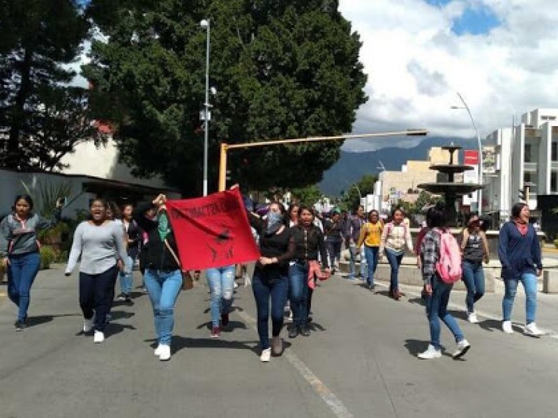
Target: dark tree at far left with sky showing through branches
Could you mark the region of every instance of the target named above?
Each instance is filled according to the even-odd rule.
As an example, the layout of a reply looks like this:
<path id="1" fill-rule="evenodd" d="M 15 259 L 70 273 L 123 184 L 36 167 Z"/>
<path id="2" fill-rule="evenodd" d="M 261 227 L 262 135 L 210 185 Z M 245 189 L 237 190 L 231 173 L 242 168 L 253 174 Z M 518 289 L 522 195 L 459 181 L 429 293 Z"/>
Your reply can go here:
<path id="1" fill-rule="evenodd" d="M 65 67 L 88 28 L 70 0 L 0 0 L 0 167 L 54 171 L 76 144 L 104 139 Z"/>

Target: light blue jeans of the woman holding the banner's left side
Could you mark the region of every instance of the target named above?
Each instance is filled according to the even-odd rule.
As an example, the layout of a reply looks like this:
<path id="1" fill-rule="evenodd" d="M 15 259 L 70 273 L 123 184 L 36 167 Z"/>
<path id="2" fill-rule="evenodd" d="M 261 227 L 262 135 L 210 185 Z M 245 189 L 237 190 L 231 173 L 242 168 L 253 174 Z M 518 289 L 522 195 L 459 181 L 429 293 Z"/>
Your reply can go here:
<path id="1" fill-rule="evenodd" d="M 180 270 L 163 272 L 146 268 L 144 281 L 153 307 L 159 343 L 170 346 L 174 327 L 174 303 L 182 287 L 182 274 Z"/>

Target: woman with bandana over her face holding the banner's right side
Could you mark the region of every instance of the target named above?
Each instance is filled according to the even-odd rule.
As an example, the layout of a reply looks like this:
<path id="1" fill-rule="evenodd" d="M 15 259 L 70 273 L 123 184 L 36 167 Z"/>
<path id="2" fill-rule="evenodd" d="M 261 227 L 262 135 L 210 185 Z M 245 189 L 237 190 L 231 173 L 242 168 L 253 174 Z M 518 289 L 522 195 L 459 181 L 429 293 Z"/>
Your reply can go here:
<path id="1" fill-rule="evenodd" d="M 260 257 L 254 269 L 252 291 L 257 307 L 257 332 L 262 362 L 269 362 L 273 355 L 281 355 L 283 309 L 289 291 L 289 260 L 294 255 L 291 231 L 283 223 L 285 207 L 279 202 L 269 205 L 266 220 L 248 212 L 250 225 L 259 234 Z M 271 300 L 271 346 L 269 342 L 269 302 Z"/>

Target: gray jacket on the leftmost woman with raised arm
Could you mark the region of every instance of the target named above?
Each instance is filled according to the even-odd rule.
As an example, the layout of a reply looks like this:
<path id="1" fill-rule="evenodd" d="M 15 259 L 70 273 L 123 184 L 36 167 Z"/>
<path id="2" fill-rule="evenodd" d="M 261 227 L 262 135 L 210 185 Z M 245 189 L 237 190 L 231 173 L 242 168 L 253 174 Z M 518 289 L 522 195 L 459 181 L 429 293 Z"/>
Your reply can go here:
<path id="1" fill-rule="evenodd" d="M 52 228 L 59 222 L 60 217 L 61 210 L 55 209 L 54 219 L 45 219 L 36 213 L 31 213 L 31 216 L 22 222 L 14 213 L 10 213 L 0 224 L 0 257 L 38 251 L 38 231 Z"/>

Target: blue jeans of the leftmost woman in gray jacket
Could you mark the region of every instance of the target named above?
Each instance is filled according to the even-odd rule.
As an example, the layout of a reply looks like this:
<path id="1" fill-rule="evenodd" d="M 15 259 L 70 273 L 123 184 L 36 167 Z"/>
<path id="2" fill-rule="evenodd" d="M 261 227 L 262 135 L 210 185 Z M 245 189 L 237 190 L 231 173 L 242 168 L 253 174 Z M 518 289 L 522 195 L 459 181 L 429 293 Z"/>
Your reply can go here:
<path id="1" fill-rule="evenodd" d="M 17 320 L 23 322 L 27 318 L 27 309 L 31 302 L 31 286 L 40 268 L 38 252 L 8 256 L 8 297 L 19 308 Z"/>

